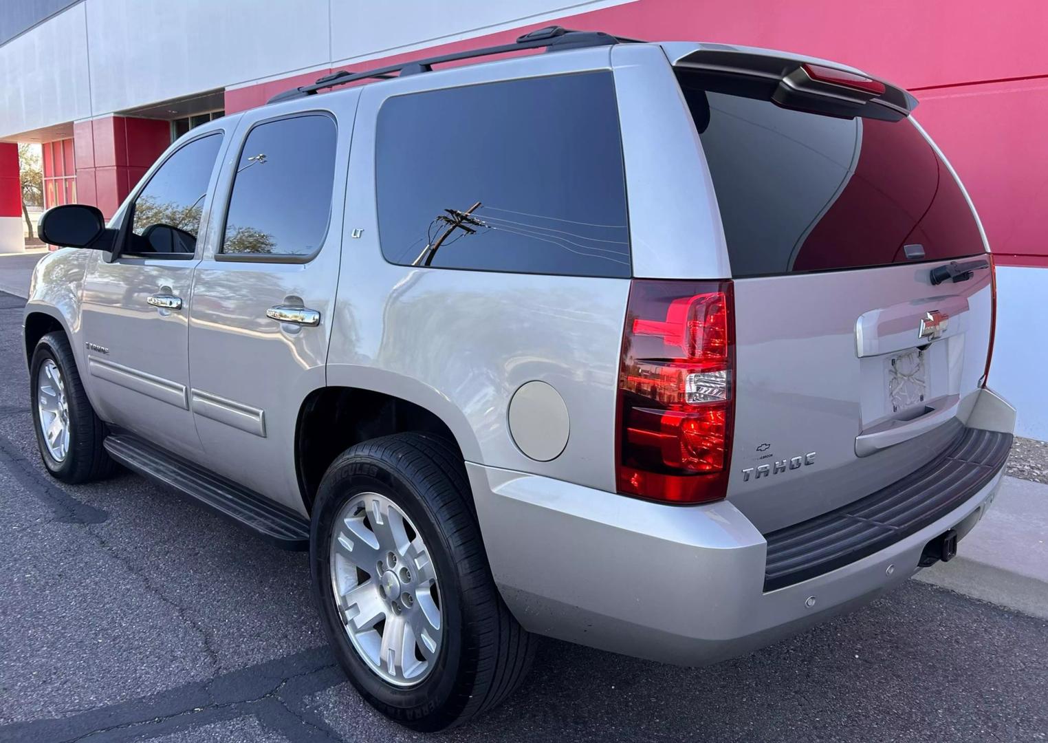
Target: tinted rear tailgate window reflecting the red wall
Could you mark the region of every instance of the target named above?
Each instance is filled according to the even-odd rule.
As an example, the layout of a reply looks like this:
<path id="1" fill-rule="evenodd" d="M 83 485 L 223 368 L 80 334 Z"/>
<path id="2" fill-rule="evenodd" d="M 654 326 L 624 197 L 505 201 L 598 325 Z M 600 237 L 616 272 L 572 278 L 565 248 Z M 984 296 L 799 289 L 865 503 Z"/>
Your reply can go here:
<path id="1" fill-rule="evenodd" d="M 908 119 L 836 118 L 681 73 L 737 277 L 984 252 L 964 195 Z M 908 259 L 920 245 L 923 259 Z M 920 250 L 911 247 L 911 254 Z"/>

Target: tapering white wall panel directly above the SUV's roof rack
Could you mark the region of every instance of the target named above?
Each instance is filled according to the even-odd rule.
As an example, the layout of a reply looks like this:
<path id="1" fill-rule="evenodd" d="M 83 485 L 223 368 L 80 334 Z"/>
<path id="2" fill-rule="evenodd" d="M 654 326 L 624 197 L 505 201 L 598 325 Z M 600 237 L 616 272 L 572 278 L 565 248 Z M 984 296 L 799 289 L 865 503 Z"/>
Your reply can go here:
<path id="1" fill-rule="evenodd" d="M 335 64 L 445 44 L 632 0 L 331 0 Z"/>

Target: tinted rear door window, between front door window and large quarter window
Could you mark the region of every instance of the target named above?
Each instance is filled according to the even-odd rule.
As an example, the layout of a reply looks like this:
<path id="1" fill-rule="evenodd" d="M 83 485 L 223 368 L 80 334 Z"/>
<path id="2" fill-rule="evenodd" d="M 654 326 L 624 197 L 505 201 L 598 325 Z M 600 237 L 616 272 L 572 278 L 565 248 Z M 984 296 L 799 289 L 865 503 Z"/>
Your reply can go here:
<path id="1" fill-rule="evenodd" d="M 331 217 L 335 126 L 330 116 L 279 118 L 250 130 L 240 152 L 222 253 L 310 256 Z"/>

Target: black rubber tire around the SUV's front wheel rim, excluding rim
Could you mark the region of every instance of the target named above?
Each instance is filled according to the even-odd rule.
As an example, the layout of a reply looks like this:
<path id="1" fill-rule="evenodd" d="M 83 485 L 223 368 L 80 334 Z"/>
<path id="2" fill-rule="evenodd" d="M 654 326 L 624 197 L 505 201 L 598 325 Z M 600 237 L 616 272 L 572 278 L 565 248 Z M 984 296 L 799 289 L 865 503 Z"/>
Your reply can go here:
<path id="1" fill-rule="evenodd" d="M 61 462 L 47 451 L 36 399 L 37 376 L 47 359 L 54 362 L 62 374 L 69 408 L 69 451 Z M 105 423 L 94 414 L 94 409 L 87 399 L 77 371 L 77 360 L 65 333 L 50 332 L 37 343 L 29 363 L 29 408 L 32 411 L 32 429 L 37 434 L 40 458 L 54 478 L 75 484 L 102 480 L 113 474 L 116 464 L 102 445 L 106 437 Z"/>

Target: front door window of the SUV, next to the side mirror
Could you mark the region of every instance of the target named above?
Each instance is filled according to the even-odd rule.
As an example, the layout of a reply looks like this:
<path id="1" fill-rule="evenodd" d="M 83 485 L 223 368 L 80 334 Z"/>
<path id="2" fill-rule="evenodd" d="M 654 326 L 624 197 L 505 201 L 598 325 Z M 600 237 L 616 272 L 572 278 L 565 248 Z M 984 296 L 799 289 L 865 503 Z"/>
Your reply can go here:
<path id="1" fill-rule="evenodd" d="M 194 139 L 176 150 L 153 173 L 132 205 L 131 232 L 124 255 L 192 258 L 220 133 Z"/>

